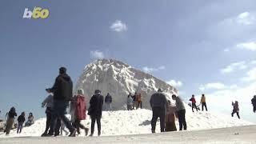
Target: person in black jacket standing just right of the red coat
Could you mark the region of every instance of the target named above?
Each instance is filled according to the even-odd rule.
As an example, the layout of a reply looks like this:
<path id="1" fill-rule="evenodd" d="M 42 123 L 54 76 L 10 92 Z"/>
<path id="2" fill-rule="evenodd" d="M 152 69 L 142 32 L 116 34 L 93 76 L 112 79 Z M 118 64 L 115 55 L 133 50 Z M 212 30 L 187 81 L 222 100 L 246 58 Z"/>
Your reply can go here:
<path id="1" fill-rule="evenodd" d="M 101 118 L 102 118 L 102 105 L 103 105 L 103 96 L 101 95 L 100 90 L 95 90 L 94 95 L 90 98 L 90 108 L 88 114 L 91 118 L 91 128 L 90 136 L 94 135 L 94 125 L 97 121 L 98 126 L 98 136 L 101 135 Z"/>

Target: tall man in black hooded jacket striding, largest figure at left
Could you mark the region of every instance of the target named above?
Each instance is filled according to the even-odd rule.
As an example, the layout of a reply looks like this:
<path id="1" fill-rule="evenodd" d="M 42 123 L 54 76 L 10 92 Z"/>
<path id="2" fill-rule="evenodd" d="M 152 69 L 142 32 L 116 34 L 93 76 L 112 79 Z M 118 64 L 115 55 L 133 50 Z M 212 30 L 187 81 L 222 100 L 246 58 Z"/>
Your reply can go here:
<path id="1" fill-rule="evenodd" d="M 52 117 L 50 119 L 50 130 L 47 136 L 54 135 L 57 118 L 61 118 L 66 128 L 70 130 L 70 137 L 74 137 L 76 129 L 71 125 L 71 122 L 66 118 L 66 108 L 69 106 L 69 101 L 72 99 L 73 82 L 68 74 L 66 68 L 59 69 L 59 75 L 55 79 L 54 86 L 49 89 L 54 93 L 54 107 Z"/>

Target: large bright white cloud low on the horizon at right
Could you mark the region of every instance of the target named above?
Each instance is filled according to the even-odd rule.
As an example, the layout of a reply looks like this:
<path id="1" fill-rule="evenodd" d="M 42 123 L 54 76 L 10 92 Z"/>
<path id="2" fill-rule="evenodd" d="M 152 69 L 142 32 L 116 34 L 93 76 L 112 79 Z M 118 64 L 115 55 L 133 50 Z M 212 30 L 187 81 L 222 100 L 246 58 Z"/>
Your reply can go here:
<path id="1" fill-rule="evenodd" d="M 256 82 L 251 82 L 247 86 L 231 86 L 223 90 L 214 90 L 206 94 L 206 103 L 218 113 L 230 114 L 232 111 L 231 102 L 238 101 L 241 117 L 246 120 L 255 121 L 251 118 L 252 105 L 250 99 L 255 95 Z M 200 100 L 201 97 L 197 99 Z"/>

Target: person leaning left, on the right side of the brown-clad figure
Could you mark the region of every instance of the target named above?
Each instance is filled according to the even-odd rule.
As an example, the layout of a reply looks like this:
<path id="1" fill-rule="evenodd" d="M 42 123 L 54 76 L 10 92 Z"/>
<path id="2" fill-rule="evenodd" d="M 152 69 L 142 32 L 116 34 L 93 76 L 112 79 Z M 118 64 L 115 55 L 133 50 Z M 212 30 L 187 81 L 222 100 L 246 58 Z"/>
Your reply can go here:
<path id="1" fill-rule="evenodd" d="M 171 98 L 176 101 L 175 111 L 178 115 L 178 123 L 179 123 L 179 130 L 186 130 L 186 109 L 184 106 L 184 103 L 182 102 L 182 99 L 173 94 Z"/>

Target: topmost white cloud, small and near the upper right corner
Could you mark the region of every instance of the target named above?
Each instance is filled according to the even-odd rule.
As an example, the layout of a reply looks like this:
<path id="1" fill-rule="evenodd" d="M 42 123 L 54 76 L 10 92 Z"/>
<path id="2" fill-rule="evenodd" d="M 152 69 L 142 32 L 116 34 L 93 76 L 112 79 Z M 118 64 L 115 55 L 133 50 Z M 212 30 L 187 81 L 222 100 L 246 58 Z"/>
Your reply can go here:
<path id="1" fill-rule="evenodd" d="M 236 22 L 242 25 L 253 25 L 255 20 L 256 18 L 254 17 L 254 14 L 250 14 L 249 12 L 238 14 L 238 17 L 236 18 Z"/>

